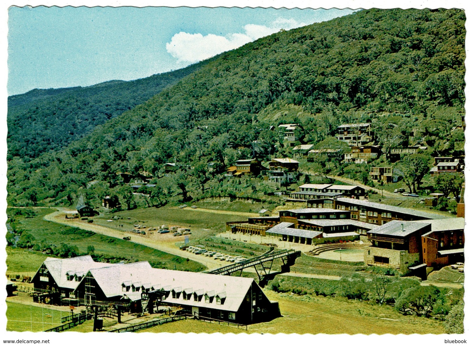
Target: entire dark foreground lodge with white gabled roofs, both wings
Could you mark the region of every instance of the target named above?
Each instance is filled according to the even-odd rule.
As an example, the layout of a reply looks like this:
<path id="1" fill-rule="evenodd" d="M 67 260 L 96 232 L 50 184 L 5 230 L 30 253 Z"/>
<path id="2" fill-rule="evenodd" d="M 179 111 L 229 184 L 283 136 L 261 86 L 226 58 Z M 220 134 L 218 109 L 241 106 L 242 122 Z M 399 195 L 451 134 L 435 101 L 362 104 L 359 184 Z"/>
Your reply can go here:
<path id="1" fill-rule="evenodd" d="M 141 312 L 144 295 L 158 292 L 161 302 L 187 314 L 241 324 L 280 316 L 253 278 L 153 269 L 149 262 L 110 264 L 91 256 L 47 258 L 32 282 L 36 301 L 62 305 L 128 302 Z"/>

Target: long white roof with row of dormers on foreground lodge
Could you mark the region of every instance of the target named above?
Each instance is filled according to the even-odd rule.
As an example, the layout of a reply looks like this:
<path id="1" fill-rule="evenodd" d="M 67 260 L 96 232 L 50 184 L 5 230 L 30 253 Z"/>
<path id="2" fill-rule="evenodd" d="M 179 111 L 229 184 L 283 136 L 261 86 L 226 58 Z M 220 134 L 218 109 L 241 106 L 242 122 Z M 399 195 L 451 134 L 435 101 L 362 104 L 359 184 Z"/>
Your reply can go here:
<path id="1" fill-rule="evenodd" d="M 183 293 L 178 298 L 173 298 L 172 293 L 165 299 L 165 302 L 187 305 L 210 307 L 219 310 L 238 311 L 246 293 L 249 291 L 253 278 L 234 277 L 225 275 L 211 275 L 198 272 L 153 269 L 148 262 L 138 262 L 133 264 L 113 264 L 110 267 L 101 269 L 91 269 L 89 271 L 95 278 L 106 297 L 115 297 L 124 295 L 135 300 L 136 292 L 123 292 L 122 284 L 125 281 L 132 280 L 133 283 L 162 285 L 164 290 L 183 290 L 192 289 L 192 292 L 198 292 L 200 295 L 206 293 L 213 295 L 226 294 L 224 304 L 217 305 L 215 298 L 209 304 L 205 303 L 204 298 L 201 301 L 195 301 L 194 297 L 189 300 L 183 299 Z M 136 282 L 134 282 L 136 281 Z M 158 288 L 161 289 L 161 288 Z M 139 292 L 140 294 L 140 292 Z M 139 296 L 140 298 L 140 296 Z"/>

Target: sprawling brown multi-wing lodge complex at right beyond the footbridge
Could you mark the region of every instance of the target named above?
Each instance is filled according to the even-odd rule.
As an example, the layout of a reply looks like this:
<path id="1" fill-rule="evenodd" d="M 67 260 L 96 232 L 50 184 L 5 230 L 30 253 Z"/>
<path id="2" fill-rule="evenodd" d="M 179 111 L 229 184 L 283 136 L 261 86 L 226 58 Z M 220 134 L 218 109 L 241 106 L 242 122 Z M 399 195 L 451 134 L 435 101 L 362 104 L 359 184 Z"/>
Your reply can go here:
<path id="1" fill-rule="evenodd" d="M 346 197 L 308 200 L 307 206 L 280 210 L 278 217 L 227 222 L 227 231 L 306 245 L 356 240 L 362 235 L 361 240 L 371 243 L 364 253 L 366 264 L 401 272 L 463 261 L 463 217 Z"/>

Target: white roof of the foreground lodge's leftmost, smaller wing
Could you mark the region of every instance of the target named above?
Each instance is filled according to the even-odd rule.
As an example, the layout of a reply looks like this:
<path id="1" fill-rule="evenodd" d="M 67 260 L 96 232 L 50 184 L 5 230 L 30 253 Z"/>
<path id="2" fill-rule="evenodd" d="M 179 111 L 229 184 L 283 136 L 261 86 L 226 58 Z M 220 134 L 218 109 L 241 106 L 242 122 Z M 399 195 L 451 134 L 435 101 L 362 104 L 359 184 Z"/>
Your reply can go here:
<path id="1" fill-rule="evenodd" d="M 67 272 L 69 275 L 77 274 L 78 276 L 84 276 L 89 269 L 113 265 L 110 263 L 94 262 L 90 255 L 65 259 L 47 257 L 44 264 L 59 287 L 70 289 L 75 289 L 80 282 L 75 281 L 75 278 L 72 281 L 67 280 Z M 36 272 L 36 274 L 38 272 Z"/>

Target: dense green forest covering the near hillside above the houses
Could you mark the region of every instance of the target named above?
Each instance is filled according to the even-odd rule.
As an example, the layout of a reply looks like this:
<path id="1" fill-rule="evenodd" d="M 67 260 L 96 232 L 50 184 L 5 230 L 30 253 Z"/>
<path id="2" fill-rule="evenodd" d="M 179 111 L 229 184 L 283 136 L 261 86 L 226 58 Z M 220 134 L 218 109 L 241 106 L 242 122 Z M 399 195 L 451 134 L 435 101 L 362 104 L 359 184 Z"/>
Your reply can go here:
<path id="1" fill-rule="evenodd" d="M 116 96 L 112 115 L 86 108 L 110 119 L 77 141 L 56 143 L 68 144 L 63 150 L 41 154 L 47 145 L 36 144 L 52 133 L 27 135 L 29 161 L 19 152 L 25 143 L 10 136 L 8 202 L 58 204 L 78 194 L 97 202 L 118 194 L 129 208 L 132 190 L 119 172 L 151 174 L 155 204 L 177 193 L 183 199 L 191 192 L 216 195 L 220 173 L 236 159 L 291 156 L 282 131 L 269 130 L 289 122 L 302 125 L 297 143 L 323 142 L 341 123 L 371 122 L 375 143 L 384 147 L 420 143 L 429 145 L 430 155 L 458 154 L 464 24 L 459 9 L 361 10 L 224 52 L 140 105 L 122 106 Z M 48 98 L 38 112 L 59 102 Z M 75 110 L 75 99 L 63 98 L 64 112 L 85 112 Z M 23 122 L 37 133 L 28 129 L 25 113 L 9 113 L 8 124 Z M 178 172 L 165 176 L 166 162 L 176 163 Z"/>

